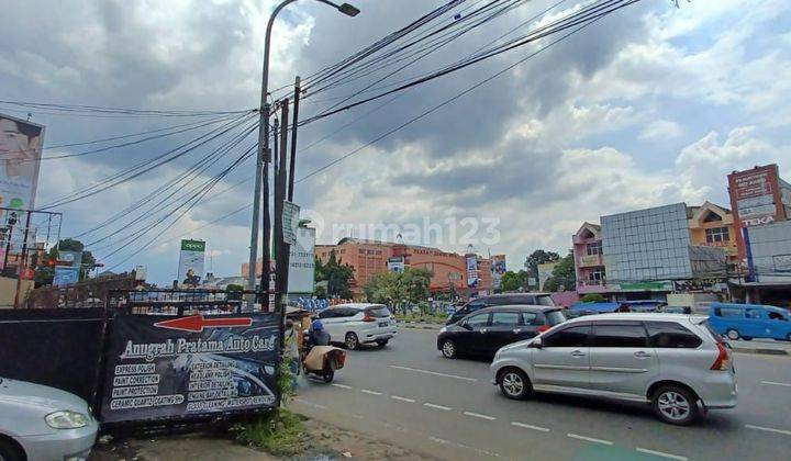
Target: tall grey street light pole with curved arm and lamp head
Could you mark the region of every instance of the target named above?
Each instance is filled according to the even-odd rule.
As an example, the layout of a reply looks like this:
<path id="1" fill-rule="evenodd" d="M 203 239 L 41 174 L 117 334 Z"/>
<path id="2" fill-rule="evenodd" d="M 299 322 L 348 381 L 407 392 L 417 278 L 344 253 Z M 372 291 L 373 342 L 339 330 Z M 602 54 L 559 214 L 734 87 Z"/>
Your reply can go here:
<path id="1" fill-rule="evenodd" d="M 272 24 L 275 18 L 278 15 L 280 10 L 286 8 L 288 4 L 293 3 L 297 0 L 283 0 L 275 7 L 275 10 L 269 15 L 267 22 L 266 35 L 264 37 L 264 68 L 261 70 L 261 95 L 259 105 L 259 122 L 258 122 L 258 156 L 256 160 L 256 178 L 255 178 L 255 191 L 253 198 L 253 223 L 250 226 L 250 255 L 249 255 L 249 268 L 247 272 L 247 284 L 250 290 L 255 290 L 256 281 L 256 262 L 258 259 L 258 221 L 260 215 L 260 209 L 264 209 L 263 218 L 263 232 L 264 237 L 261 238 L 264 245 L 261 248 L 261 286 L 260 291 L 265 293 L 260 300 L 261 307 L 268 310 L 269 307 L 269 113 L 270 105 L 267 100 L 269 92 L 269 42 L 271 37 Z M 359 10 L 355 7 L 343 3 L 335 4 L 328 0 L 316 0 L 320 3 L 328 4 L 336 10 L 348 16 L 356 16 Z M 265 189 L 266 199 L 261 203 L 261 189 Z"/>

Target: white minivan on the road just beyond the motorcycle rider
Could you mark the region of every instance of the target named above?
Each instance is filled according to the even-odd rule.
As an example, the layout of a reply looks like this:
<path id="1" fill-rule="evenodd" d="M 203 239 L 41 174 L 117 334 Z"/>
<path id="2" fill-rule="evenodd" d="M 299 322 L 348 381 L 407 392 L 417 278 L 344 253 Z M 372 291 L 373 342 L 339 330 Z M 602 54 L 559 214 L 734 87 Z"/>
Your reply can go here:
<path id="1" fill-rule="evenodd" d="M 347 349 L 361 344 L 381 347 L 398 334 L 396 318 L 383 304 L 337 304 L 319 313 L 332 342 L 343 342 Z"/>

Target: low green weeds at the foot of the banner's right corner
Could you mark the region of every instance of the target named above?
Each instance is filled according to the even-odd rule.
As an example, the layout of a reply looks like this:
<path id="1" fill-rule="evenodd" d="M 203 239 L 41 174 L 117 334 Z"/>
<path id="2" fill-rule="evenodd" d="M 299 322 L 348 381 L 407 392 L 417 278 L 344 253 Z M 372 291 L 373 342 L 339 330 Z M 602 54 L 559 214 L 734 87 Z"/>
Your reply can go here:
<path id="1" fill-rule="evenodd" d="M 263 448 L 276 457 L 292 457 L 304 450 L 302 420 L 286 408 L 257 415 L 232 430 L 238 441 Z"/>

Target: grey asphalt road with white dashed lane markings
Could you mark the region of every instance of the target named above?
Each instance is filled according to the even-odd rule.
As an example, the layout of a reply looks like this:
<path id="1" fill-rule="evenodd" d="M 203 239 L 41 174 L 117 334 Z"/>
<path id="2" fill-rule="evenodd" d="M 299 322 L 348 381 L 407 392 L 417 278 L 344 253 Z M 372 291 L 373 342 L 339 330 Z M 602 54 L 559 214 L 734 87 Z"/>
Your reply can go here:
<path id="1" fill-rule="evenodd" d="M 549 394 L 506 400 L 490 384 L 488 362 L 444 359 L 435 338 L 436 331 L 401 329 L 385 349 L 350 351 L 333 384 L 301 378 L 292 406 L 426 458 L 791 457 L 791 357 L 737 353 L 738 406 L 676 427 L 642 404 Z"/>

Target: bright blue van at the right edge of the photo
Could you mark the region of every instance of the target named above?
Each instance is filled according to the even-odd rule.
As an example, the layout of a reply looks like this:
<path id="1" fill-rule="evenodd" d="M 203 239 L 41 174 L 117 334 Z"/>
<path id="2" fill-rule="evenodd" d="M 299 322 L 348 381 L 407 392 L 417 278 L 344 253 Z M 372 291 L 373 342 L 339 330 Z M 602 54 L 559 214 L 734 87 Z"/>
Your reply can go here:
<path id="1" fill-rule="evenodd" d="M 712 328 L 728 339 L 772 338 L 791 341 L 791 321 L 784 308 L 760 304 L 712 303 Z"/>

